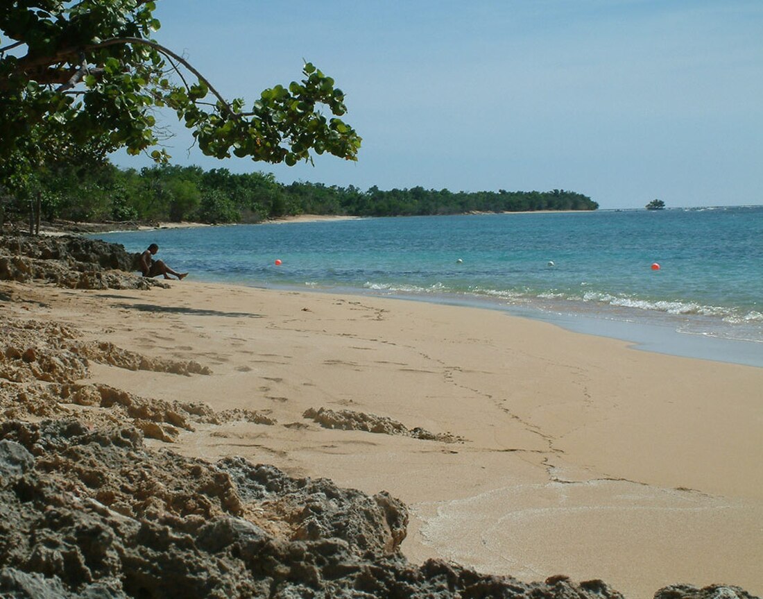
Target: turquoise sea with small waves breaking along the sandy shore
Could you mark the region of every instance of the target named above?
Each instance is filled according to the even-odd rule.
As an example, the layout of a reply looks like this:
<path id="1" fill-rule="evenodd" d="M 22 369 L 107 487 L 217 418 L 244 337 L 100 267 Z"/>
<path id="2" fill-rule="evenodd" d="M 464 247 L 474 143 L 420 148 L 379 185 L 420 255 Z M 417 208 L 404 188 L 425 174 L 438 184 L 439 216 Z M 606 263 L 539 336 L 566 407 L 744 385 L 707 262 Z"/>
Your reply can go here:
<path id="1" fill-rule="evenodd" d="M 365 218 L 93 237 L 135 252 L 158 243 L 157 257 L 191 272 L 189 280 L 465 304 L 649 351 L 763 366 L 763 206 Z"/>

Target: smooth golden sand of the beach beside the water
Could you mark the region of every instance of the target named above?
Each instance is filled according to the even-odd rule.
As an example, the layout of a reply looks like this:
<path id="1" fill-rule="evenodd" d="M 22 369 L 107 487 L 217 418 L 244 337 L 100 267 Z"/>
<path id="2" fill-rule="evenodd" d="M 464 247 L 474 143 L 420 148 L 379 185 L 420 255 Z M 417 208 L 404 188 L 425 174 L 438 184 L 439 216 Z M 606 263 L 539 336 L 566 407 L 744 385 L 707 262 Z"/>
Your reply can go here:
<path id="1" fill-rule="evenodd" d="M 275 425 L 199 425 L 171 447 L 328 477 L 410 509 L 403 550 L 526 581 L 603 578 L 627 597 L 686 582 L 763 594 L 763 369 L 663 356 L 498 311 L 193 282 L 14 286 L 56 320 L 179 377 L 92 364 L 92 381 Z M 375 414 L 456 442 L 325 428 Z M 149 440 L 152 446 L 166 443 Z"/>

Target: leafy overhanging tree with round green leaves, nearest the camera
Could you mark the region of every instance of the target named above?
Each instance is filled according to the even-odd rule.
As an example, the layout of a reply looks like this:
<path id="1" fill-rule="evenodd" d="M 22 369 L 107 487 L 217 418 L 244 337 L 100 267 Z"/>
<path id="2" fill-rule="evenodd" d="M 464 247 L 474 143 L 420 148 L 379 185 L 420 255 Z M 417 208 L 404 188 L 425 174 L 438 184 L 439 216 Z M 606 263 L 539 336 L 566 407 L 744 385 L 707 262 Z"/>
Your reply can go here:
<path id="1" fill-rule="evenodd" d="M 148 0 L 0 2 L 0 184 L 21 187 L 49 159 L 148 151 L 159 144 L 154 113 L 163 107 L 208 156 L 288 165 L 311 151 L 356 159 L 361 138 L 338 118 L 344 94 L 313 64 L 301 81 L 266 89 L 245 108 L 153 40 L 155 9 Z M 150 156 L 169 159 L 161 147 Z"/>

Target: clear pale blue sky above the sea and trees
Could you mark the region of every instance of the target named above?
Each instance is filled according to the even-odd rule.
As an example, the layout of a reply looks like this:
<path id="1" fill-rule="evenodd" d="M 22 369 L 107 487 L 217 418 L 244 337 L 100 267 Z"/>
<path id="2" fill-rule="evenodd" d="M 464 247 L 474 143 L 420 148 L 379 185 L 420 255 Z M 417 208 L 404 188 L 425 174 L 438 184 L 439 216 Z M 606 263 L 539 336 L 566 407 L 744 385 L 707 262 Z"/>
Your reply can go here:
<path id="1" fill-rule="evenodd" d="M 169 116 L 175 164 L 364 190 L 568 189 L 600 208 L 763 204 L 763 0 L 156 4 L 154 38 L 225 97 L 250 108 L 307 60 L 363 138 L 357 163 L 221 161 Z"/>

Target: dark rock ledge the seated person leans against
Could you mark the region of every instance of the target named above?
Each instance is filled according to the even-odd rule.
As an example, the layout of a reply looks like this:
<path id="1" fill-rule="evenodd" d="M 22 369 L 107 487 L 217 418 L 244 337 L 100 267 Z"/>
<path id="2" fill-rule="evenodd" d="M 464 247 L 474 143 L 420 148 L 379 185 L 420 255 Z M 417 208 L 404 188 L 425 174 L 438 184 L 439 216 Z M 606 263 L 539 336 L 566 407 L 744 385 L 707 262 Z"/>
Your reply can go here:
<path id="1" fill-rule="evenodd" d="M 72 289 L 166 286 L 135 274 L 137 260 L 124 246 L 85 237 L 0 236 L 0 280 L 41 279 Z"/>

